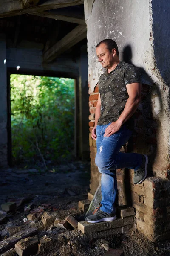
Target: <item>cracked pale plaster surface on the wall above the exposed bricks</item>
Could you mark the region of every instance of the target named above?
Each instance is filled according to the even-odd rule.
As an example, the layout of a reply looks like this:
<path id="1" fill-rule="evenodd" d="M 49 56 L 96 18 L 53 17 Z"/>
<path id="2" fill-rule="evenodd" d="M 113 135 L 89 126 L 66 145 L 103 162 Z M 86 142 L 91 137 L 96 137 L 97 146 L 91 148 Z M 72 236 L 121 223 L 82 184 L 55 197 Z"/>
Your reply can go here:
<path id="1" fill-rule="evenodd" d="M 97 61 L 96 44 L 105 38 L 115 40 L 120 60 L 124 48 L 130 46 L 132 63 L 144 70 L 142 82 L 150 85 L 153 118 L 159 126 L 153 174 L 167 177 L 167 169 L 170 169 L 169 4 L 165 0 L 156 3 L 151 0 L 85 0 L 84 3 L 88 28 L 89 93 L 94 92 L 99 76 L 104 72 Z"/>

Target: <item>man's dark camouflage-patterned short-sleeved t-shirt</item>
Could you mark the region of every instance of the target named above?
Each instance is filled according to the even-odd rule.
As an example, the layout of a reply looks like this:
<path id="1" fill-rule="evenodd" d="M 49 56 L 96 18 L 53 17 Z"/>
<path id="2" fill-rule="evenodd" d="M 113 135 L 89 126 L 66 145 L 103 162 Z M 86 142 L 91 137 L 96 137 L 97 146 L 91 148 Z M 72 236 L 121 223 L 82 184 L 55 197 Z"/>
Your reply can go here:
<path id="1" fill-rule="evenodd" d="M 99 93 L 101 97 L 101 115 L 98 125 L 107 125 L 116 121 L 125 108 L 128 99 L 127 84 L 140 83 L 141 75 L 133 64 L 119 62 L 114 70 L 108 70 L 99 78 Z M 127 124 L 130 124 L 129 119 Z"/>

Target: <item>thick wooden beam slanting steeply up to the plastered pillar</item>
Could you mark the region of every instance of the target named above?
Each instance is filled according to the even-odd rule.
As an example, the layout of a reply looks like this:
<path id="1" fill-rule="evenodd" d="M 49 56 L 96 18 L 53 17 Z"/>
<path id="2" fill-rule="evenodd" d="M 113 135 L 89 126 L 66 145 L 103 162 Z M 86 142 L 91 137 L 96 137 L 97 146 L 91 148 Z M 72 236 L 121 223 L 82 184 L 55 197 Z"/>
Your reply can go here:
<path id="1" fill-rule="evenodd" d="M 87 28 L 84 25 L 79 25 L 73 29 L 70 33 L 65 35 L 61 40 L 59 40 L 53 47 L 48 49 L 43 54 L 44 62 L 53 61 L 59 54 L 70 49 L 72 46 L 77 44 L 82 39 L 86 38 Z"/>

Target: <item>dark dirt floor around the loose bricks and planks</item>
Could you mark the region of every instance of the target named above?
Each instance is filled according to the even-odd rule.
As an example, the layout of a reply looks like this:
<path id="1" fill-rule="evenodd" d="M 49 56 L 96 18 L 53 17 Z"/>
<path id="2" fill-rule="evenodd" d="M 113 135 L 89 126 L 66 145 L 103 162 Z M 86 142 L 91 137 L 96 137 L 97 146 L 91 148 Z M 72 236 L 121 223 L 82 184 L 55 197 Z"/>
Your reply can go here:
<path id="1" fill-rule="evenodd" d="M 0 225 L 0 241 L 26 227 L 36 227 L 36 237 L 45 241 L 39 256 L 102 256 L 108 248 L 122 249 L 125 256 L 170 255 L 169 241 L 153 244 L 136 230 L 122 236 L 88 239 L 79 230 L 59 228 L 58 223 L 69 214 L 81 218 L 78 202 L 88 198 L 89 180 L 88 162 L 64 163 L 48 171 L 1 170 L 0 205 L 15 201 L 18 207 L 16 212 L 9 214 L 8 221 Z M 56 226 L 45 229 L 41 221 L 45 211 L 56 214 Z M 36 215 L 36 219 L 24 220 L 30 213 Z M 11 249 L 2 255 L 17 256 L 17 253 Z"/>

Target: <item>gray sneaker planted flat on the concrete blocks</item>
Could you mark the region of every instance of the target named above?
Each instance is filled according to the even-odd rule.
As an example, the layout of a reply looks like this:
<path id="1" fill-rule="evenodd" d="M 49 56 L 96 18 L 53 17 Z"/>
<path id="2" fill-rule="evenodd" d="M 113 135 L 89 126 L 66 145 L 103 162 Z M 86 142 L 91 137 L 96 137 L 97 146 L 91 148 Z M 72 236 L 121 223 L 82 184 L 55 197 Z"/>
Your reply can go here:
<path id="1" fill-rule="evenodd" d="M 90 223 L 97 223 L 101 221 L 114 221 L 116 220 L 115 214 L 109 214 L 107 212 L 102 212 L 100 209 L 98 209 L 93 215 L 90 215 L 85 218 L 86 221 Z"/>

